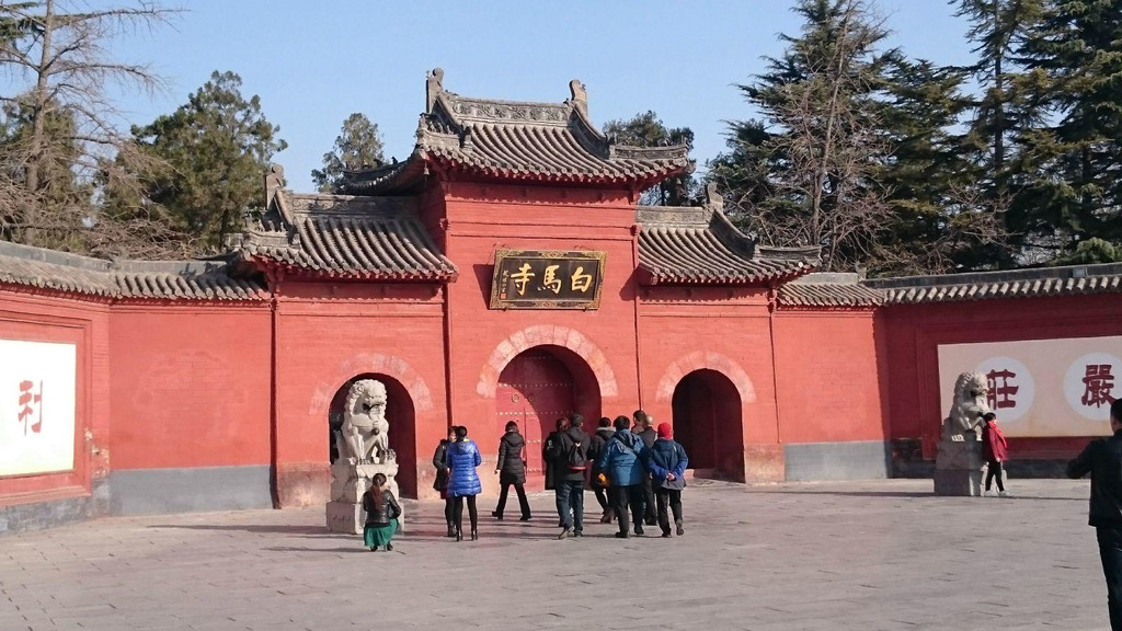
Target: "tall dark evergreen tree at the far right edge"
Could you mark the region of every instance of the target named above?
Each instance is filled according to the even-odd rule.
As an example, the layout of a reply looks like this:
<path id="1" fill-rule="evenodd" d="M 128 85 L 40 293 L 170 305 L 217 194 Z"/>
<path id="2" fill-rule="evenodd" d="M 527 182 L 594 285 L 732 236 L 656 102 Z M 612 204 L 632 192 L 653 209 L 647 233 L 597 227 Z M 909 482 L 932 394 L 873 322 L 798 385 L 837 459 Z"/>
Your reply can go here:
<path id="1" fill-rule="evenodd" d="M 1013 220 L 1052 255 L 1122 244 L 1122 4 L 1049 0 L 1020 54 L 1046 116 L 1024 132 Z"/>

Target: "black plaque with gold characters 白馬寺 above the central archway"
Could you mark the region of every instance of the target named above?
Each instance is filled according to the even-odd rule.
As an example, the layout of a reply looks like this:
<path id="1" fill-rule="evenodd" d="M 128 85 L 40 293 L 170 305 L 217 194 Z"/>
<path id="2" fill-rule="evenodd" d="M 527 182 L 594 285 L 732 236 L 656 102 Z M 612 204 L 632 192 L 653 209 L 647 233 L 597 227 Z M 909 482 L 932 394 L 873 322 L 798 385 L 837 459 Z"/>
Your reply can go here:
<path id="1" fill-rule="evenodd" d="M 491 309 L 598 309 L 603 252 L 495 252 Z"/>

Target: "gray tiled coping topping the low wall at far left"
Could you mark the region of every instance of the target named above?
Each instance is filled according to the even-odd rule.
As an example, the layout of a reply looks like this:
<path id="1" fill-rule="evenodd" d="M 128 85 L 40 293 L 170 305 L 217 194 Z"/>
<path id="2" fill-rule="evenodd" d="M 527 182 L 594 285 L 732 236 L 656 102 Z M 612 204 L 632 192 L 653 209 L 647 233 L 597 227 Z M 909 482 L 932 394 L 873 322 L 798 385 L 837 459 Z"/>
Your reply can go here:
<path id="1" fill-rule="evenodd" d="M 267 300 L 264 284 L 224 262 L 110 262 L 0 241 L 0 283 L 107 299 Z"/>

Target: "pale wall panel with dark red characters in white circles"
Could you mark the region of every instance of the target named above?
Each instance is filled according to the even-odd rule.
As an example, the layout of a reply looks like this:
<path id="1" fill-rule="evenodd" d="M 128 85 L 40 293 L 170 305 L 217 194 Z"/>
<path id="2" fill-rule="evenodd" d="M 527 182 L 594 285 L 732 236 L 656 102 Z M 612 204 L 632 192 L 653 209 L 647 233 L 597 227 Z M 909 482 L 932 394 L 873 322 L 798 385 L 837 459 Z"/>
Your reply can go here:
<path id="1" fill-rule="evenodd" d="M 1096 436 L 1122 396 L 1122 337 L 945 345 L 939 378 L 977 371 L 990 386 L 986 403 L 1014 437 Z"/>

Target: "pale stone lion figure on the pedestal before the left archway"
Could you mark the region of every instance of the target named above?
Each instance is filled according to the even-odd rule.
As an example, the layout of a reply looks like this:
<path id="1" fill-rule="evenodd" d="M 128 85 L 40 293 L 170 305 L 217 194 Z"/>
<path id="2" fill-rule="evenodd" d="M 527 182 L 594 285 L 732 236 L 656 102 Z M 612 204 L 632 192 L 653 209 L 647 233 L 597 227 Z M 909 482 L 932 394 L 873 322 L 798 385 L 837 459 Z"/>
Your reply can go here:
<path id="1" fill-rule="evenodd" d="M 355 382 L 347 392 L 343 424 L 335 433 L 339 455 L 358 463 L 385 463 L 389 449 L 389 422 L 386 421 L 386 386 L 377 379 Z"/>

